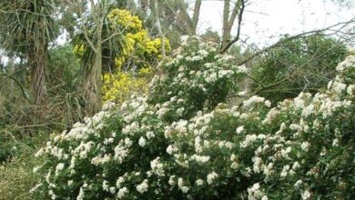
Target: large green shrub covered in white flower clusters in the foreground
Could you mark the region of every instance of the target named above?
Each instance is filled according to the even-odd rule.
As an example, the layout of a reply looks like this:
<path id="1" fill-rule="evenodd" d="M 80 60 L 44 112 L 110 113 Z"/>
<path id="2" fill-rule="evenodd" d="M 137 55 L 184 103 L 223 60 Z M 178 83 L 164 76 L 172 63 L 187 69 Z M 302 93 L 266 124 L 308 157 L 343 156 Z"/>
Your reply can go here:
<path id="1" fill-rule="evenodd" d="M 52 199 L 354 197 L 355 56 L 325 93 L 272 108 L 259 96 L 229 106 L 221 103 L 243 67 L 198 38 L 186 44 L 161 63 L 147 97 L 106 104 L 38 151 L 46 162 L 32 191 Z"/>

